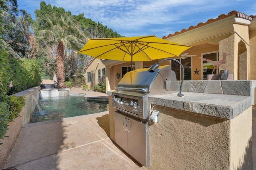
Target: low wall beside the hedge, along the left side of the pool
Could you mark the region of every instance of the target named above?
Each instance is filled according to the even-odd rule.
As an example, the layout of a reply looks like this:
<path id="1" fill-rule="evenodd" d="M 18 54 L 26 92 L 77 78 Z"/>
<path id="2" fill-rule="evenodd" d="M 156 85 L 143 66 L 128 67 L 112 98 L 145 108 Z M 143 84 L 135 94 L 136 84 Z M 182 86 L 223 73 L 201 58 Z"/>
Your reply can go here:
<path id="1" fill-rule="evenodd" d="M 34 112 L 34 109 L 36 107 L 36 102 L 34 101 L 34 97 L 36 100 L 39 98 L 39 90 L 40 86 L 33 87 L 27 90 L 24 90 L 22 92 L 13 94 L 15 96 L 24 96 L 26 98 L 26 104 L 22 108 L 22 111 L 20 112 L 20 116 L 16 117 L 14 121 L 9 123 L 9 130 L 7 131 L 6 138 L 2 139 L 0 142 L 3 143 L 0 145 L 0 169 L 4 167 L 4 164 L 12 151 L 19 135 L 20 131 L 22 130 L 22 127 L 29 123 L 30 117 L 32 113 Z M 34 97 L 32 97 L 34 96 Z"/>

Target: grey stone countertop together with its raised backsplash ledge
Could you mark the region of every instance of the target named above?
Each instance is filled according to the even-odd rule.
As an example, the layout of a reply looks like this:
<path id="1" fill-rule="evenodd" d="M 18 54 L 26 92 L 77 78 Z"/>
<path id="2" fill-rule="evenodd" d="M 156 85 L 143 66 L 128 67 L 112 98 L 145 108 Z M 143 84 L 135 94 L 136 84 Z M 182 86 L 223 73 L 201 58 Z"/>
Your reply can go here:
<path id="1" fill-rule="evenodd" d="M 177 93 L 149 94 L 152 105 L 233 119 L 254 104 L 256 80 L 189 80 L 182 85 L 183 97 Z M 181 81 L 177 82 L 177 90 Z M 114 90 L 113 90 L 114 91 Z M 112 91 L 108 91 L 112 95 Z"/>

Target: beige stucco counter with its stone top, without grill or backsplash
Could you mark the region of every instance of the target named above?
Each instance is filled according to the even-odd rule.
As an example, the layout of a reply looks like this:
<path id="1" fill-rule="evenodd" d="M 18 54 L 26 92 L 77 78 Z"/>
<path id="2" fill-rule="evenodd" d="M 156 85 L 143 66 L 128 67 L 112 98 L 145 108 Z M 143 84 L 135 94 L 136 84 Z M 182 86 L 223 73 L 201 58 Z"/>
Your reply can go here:
<path id="1" fill-rule="evenodd" d="M 182 92 L 150 96 L 148 169 L 252 170 L 252 96 Z"/>

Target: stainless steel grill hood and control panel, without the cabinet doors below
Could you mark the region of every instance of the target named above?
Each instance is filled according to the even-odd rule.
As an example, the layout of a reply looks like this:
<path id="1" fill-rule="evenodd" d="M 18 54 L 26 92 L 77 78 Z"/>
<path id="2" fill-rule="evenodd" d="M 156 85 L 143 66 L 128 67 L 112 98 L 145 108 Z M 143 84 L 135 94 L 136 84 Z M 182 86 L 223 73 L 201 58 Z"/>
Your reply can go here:
<path id="1" fill-rule="evenodd" d="M 146 121 L 150 114 L 148 96 L 177 92 L 177 80 L 170 66 L 160 66 L 155 72 L 148 68 L 127 72 L 113 92 L 113 107 Z"/>

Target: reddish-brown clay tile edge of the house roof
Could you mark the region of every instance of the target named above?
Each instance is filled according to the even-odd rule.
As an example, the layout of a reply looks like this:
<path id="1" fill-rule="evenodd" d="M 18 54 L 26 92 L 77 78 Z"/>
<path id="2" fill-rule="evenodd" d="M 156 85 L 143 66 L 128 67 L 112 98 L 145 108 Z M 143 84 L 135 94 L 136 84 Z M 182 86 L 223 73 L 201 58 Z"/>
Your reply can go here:
<path id="1" fill-rule="evenodd" d="M 209 23 L 213 23 L 213 22 L 215 22 L 215 21 L 222 20 L 222 19 L 224 19 L 224 18 L 227 18 L 227 17 L 229 17 L 229 16 L 233 16 L 233 15 L 236 15 L 236 17 L 238 17 L 238 18 L 243 18 L 243 19 L 250 20 L 250 21 L 252 21 L 252 18 L 256 18 L 256 16 L 248 16 L 248 15 L 242 13 L 242 12 L 231 11 L 231 12 L 229 12 L 227 15 L 226 15 L 226 14 L 221 14 L 221 15 L 218 16 L 218 18 L 216 18 L 216 19 L 211 18 L 211 19 L 209 19 L 208 21 L 206 21 L 206 22 L 204 22 L 204 23 L 203 23 L 203 22 L 200 22 L 200 23 L 198 23 L 196 26 L 190 26 L 188 29 L 182 29 L 181 31 L 176 31 L 174 34 L 169 34 L 168 36 L 162 37 L 162 39 L 167 39 L 167 38 L 173 37 L 173 36 L 175 36 L 175 35 L 184 33 L 184 32 L 186 32 L 186 31 L 190 31 L 190 30 L 195 29 L 195 28 L 198 28 L 198 27 L 202 27 L 202 26 L 207 25 L 207 24 L 209 24 Z"/>

